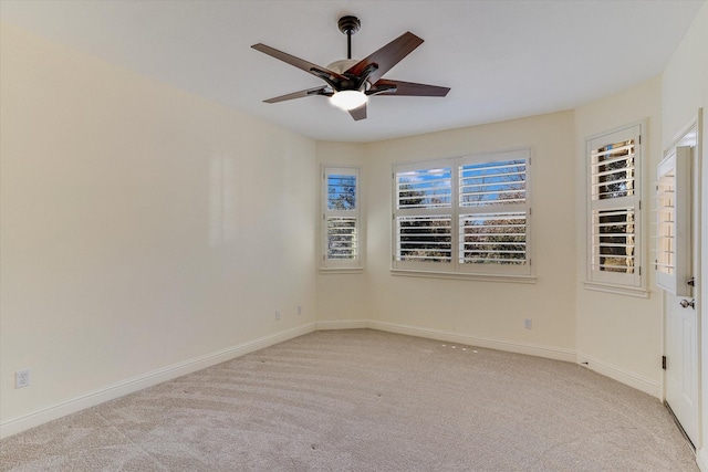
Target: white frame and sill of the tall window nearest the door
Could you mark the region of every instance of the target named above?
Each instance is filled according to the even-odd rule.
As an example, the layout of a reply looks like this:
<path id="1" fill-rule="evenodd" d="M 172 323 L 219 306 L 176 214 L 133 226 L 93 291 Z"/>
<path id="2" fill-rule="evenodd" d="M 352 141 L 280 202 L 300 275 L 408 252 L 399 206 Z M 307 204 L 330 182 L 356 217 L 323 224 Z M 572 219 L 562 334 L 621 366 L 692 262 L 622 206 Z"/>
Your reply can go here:
<path id="1" fill-rule="evenodd" d="M 590 136 L 585 139 L 585 168 L 587 174 L 587 187 L 585 191 L 586 280 L 584 285 L 587 290 L 596 290 L 642 297 L 648 296 L 648 292 L 646 290 L 646 270 L 644 270 L 644 268 L 646 266 L 646 255 L 644 247 L 644 218 L 642 208 L 642 201 L 644 197 L 642 170 L 644 161 L 642 143 L 644 129 L 646 129 L 645 122 L 639 122 L 612 130 L 603 132 L 594 136 Z M 614 171 L 615 174 L 618 174 L 621 171 L 601 171 L 600 169 L 597 169 L 597 172 L 595 172 L 594 168 L 602 165 L 598 164 L 597 160 L 600 159 L 598 156 L 602 157 L 602 153 L 593 153 L 597 149 L 607 147 L 613 144 L 628 141 L 632 141 L 632 146 L 634 147 L 634 156 L 632 159 L 634 175 L 631 181 L 632 195 L 608 197 L 604 199 L 594 197 L 595 195 L 598 195 L 597 192 L 600 191 L 600 187 L 603 185 L 603 182 L 600 181 L 603 172 L 607 174 L 610 171 Z M 610 150 L 610 153 L 611 151 L 612 150 Z M 606 167 L 604 169 L 606 169 Z M 606 241 L 602 242 L 603 237 L 601 235 L 602 233 L 600 227 L 606 223 L 602 223 L 600 218 L 597 217 L 601 212 L 605 212 L 605 214 L 608 214 L 612 211 L 616 211 L 617 213 L 626 212 L 627 214 L 633 216 L 633 241 L 629 239 L 629 237 L 627 237 L 625 241 L 625 244 L 634 244 L 632 261 L 627 262 L 627 265 L 632 266 L 632 269 L 627 269 L 627 272 L 625 273 L 614 272 L 608 269 L 608 265 L 603 264 L 603 261 L 606 261 L 607 259 L 607 254 L 603 254 L 603 250 L 601 248 L 604 247 L 606 250 L 606 248 L 610 247 L 611 243 L 607 243 Z"/>

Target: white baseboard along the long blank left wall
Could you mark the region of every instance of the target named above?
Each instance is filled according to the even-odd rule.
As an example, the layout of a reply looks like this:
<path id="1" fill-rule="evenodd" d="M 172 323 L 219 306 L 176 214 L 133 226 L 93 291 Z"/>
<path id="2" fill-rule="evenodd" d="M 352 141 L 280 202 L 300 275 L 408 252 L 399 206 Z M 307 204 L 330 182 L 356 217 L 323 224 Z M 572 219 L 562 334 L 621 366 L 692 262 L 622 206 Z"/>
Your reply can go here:
<path id="1" fill-rule="evenodd" d="M 49 407 L 43 410 L 35 411 L 30 415 L 25 415 L 0 423 L 0 438 L 17 434 L 18 432 L 22 432 L 30 428 L 34 428 L 45 422 L 65 417 L 66 415 L 74 413 L 76 411 L 94 407 L 96 405 L 113 400 L 124 395 L 133 394 L 134 391 L 138 391 L 144 388 L 152 387 L 154 385 L 162 384 L 164 381 L 171 380 L 187 374 L 191 374 L 194 371 L 233 359 L 239 356 L 243 356 L 244 354 L 249 354 L 254 350 L 259 350 L 264 347 L 272 346 L 274 344 L 282 343 L 284 340 L 292 339 L 308 333 L 312 333 L 315 329 L 315 324 L 309 323 L 306 325 L 298 326 L 294 328 L 274 333 L 272 335 L 263 336 L 258 339 L 241 343 L 236 346 L 218 350 L 216 353 L 185 360 L 173 366 L 168 366 L 138 377 L 106 386 L 98 390 L 82 395 L 81 397 L 76 397 L 72 400 L 64 401 L 53 407 Z"/>

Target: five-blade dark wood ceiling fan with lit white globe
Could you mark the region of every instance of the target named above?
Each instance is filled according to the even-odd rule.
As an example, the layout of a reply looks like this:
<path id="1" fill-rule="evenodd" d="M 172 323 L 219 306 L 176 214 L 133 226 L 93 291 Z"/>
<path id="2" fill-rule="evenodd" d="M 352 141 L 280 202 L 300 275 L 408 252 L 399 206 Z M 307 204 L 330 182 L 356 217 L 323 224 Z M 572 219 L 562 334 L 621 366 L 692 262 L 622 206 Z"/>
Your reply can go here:
<path id="1" fill-rule="evenodd" d="M 305 96 L 323 95 L 330 97 L 330 101 L 335 106 L 347 111 L 355 120 L 360 120 L 366 118 L 366 103 L 372 95 L 447 95 L 450 91 L 448 87 L 382 78 L 402 59 L 423 44 L 423 40 L 412 32 L 402 34 L 361 61 L 352 59 L 352 35 L 360 30 L 361 24 L 356 17 L 340 18 L 337 25 L 340 31 L 346 34 L 347 59 L 335 61 L 326 67 L 295 57 L 266 44 L 253 44 L 251 48 L 254 50 L 294 65 L 326 82 L 326 85 L 293 92 L 263 102 L 278 103 Z"/>

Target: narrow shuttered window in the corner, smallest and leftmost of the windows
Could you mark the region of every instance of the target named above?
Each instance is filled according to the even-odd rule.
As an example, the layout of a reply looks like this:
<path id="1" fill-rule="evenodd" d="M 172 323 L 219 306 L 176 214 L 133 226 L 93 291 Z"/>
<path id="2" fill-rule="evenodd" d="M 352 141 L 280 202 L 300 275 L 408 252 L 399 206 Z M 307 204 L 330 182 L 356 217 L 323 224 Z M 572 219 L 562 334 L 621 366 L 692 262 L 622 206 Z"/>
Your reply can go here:
<path id="1" fill-rule="evenodd" d="M 323 269 L 361 266 L 358 168 L 324 167 Z"/>

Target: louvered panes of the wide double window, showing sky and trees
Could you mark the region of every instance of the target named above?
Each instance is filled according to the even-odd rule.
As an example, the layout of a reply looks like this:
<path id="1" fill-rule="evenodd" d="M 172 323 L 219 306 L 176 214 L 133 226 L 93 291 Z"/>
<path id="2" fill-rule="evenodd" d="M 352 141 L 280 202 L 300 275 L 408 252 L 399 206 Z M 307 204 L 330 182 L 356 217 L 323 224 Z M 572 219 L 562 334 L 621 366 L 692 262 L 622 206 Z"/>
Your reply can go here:
<path id="1" fill-rule="evenodd" d="M 416 212 L 396 219 L 397 260 L 451 262 L 457 232 L 461 264 L 525 263 L 525 210 L 491 208 L 525 204 L 525 159 L 402 171 L 396 174 L 396 191 L 397 210 Z M 459 222 L 454 222 L 458 212 Z"/>

